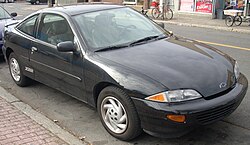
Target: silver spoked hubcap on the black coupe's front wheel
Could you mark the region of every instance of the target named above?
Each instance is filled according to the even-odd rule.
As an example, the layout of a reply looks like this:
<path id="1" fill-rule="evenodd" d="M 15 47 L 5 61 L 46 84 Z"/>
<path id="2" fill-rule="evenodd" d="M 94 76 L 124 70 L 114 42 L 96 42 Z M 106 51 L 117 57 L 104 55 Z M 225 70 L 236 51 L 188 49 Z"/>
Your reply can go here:
<path id="1" fill-rule="evenodd" d="M 116 98 L 108 96 L 101 104 L 102 119 L 114 133 L 123 133 L 128 127 L 128 117 L 123 105 Z"/>

